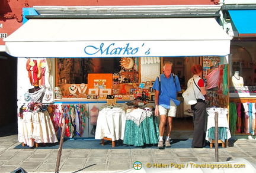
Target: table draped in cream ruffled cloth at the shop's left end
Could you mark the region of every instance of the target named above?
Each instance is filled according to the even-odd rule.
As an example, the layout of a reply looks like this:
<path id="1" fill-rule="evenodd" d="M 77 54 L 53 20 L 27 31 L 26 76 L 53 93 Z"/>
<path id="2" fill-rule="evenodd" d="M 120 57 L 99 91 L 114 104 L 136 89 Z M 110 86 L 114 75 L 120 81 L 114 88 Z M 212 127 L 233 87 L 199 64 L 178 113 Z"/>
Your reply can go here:
<path id="1" fill-rule="evenodd" d="M 48 111 L 24 112 L 23 119 L 20 119 L 18 130 L 18 141 L 30 147 L 37 143 L 58 142 L 55 129 Z"/>

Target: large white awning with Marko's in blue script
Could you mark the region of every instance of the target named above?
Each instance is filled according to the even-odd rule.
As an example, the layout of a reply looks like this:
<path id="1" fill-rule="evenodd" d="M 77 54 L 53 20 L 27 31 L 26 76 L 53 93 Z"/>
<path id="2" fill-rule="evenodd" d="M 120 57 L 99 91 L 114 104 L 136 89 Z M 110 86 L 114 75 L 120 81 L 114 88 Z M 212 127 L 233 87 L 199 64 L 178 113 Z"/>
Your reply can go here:
<path id="1" fill-rule="evenodd" d="M 226 56 L 215 18 L 30 19 L 5 38 L 14 57 Z"/>

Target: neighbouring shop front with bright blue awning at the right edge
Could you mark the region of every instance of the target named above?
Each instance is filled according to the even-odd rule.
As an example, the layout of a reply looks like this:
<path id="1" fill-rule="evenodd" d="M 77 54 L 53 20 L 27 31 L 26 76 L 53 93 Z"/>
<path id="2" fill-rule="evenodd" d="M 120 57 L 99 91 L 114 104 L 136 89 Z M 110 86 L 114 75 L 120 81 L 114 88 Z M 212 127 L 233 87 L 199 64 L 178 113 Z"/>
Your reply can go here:
<path id="1" fill-rule="evenodd" d="M 252 1 L 225 1 L 222 6 L 223 29 L 233 37 L 229 56 L 229 120 L 234 129 L 232 135 L 241 138 L 255 135 L 255 5 Z"/>

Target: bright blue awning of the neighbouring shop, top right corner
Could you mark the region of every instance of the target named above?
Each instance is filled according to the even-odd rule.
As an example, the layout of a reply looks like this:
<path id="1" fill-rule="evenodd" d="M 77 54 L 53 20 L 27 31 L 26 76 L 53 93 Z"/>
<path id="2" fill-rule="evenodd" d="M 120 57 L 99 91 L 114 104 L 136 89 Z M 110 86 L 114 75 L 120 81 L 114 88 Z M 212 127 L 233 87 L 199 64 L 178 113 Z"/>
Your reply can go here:
<path id="1" fill-rule="evenodd" d="M 228 10 L 239 36 L 256 36 L 256 9 Z"/>

